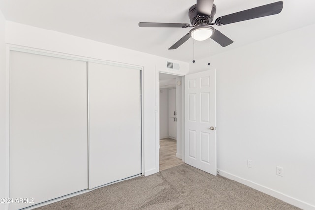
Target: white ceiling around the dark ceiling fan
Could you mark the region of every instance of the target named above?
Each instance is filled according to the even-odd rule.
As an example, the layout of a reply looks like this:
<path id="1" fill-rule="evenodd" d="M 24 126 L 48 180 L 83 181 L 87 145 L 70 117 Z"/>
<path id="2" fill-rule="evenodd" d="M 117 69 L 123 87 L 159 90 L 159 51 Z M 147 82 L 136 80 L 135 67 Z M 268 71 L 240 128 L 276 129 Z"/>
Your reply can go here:
<path id="1" fill-rule="evenodd" d="M 278 0 L 215 0 L 214 17 Z M 195 60 L 315 23 L 315 0 L 283 0 L 278 15 L 215 26 L 234 41 L 225 48 L 210 40 L 195 41 Z M 55 30 L 174 60 L 193 60 L 193 40 L 168 50 L 189 28 L 140 28 L 138 22 L 190 23 L 196 0 L 0 0 L 6 20 Z M 289 43 L 288 43 L 289 44 Z"/>

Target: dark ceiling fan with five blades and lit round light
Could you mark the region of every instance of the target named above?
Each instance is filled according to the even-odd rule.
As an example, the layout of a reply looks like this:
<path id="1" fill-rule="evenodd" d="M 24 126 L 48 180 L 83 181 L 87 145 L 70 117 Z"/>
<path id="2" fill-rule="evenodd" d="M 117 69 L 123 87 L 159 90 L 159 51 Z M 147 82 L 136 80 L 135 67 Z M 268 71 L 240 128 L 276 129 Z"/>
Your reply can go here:
<path id="1" fill-rule="evenodd" d="M 252 9 L 243 10 L 240 12 L 232 13 L 219 17 L 215 22 L 211 23 L 214 15 L 216 14 L 217 8 L 213 4 L 214 0 L 197 0 L 197 3 L 190 7 L 188 16 L 191 25 L 188 23 L 149 23 L 140 22 L 139 27 L 178 27 L 192 29 L 172 45 L 169 50 L 176 49 L 186 42 L 190 37 L 197 40 L 203 41 L 208 38 L 213 39 L 215 42 L 220 44 L 222 47 L 226 47 L 233 43 L 231 39 L 222 34 L 219 30 L 216 30 L 212 25 L 222 26 L 230 23 L 250 20 L 254 18 L 265 17 L 269 15 L 275 15 L 281 12 L 284 2 L 278 1 L 275 3 L 258 6 Z"/>

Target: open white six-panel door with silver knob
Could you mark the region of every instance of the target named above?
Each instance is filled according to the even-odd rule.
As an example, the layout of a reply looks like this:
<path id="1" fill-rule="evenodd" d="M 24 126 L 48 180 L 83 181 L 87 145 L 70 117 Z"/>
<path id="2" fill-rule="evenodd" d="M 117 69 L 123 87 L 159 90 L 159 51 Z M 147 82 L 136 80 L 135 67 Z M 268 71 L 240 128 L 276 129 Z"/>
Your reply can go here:
<path id="1" fill-rule="evenodd" d="M 216 71 L 185 76 L 185 162 L 217 175 Z"/>

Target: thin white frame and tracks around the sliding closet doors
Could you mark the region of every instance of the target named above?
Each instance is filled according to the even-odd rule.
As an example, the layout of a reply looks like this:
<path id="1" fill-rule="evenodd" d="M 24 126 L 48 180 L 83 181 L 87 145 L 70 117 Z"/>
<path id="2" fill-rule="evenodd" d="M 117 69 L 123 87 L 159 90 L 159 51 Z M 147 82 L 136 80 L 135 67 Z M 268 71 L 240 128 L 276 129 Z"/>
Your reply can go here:
<path id="1" fill-rule="evenodd" d="M 41 49 L 35 49 L 35 48 L 31 48 L 31 47 L 24 47 L 24 46 L 19 46 L 19 45 L 13 45 L 13 44 L 6 44 L 6 116 L 5 116 L 5 157 L 6 157 L 6 161 L 5 161 L 5 197 L 9 198 L 10 196 L 10 52 L 11 51 L 18 51 L 18 52 L 25 52 L 25 53 L 31 53 L 31 54 L 37 54 L 37 55 L 44 55 L 44 56 L 50 56 L 50 57 L 56 57 L 56 58 L 63 58 L 63 59 L 69 59 L 69 60 L 78 60 L 78 61 L 84 61 L 84 62 L 94 62 L 94 63 L 100 63 L 100 64 L 105 64 L 105 65 L 114 65 L 114 66 L 123 66 L 123 67 L 127 67 L 127 68 L 133 68 L 133 69 L 138 69 L 140 70 L 140 75 L 141 75 L 141 79 L 140 79 L 140 91 L 141 91 L 141 171 L 142 174 L 138 175 L 144 175 L 144 99 L 143 99 L 143 95 L 144 95 L 144 71 L 143 71 L 143 67 L 142 66 L 137 66 L 137 65 L 132 65 L 132 64 L 126 64 L 126 63 L 120 63 L 120 62 L 114 62 L 114 61 L 108 61 L 108 60 L 100 60 L 100 59 L 94 59 L 94 58 L 87 58 L 87 57 L 83 57 L 83 56 L 76 56 L 76 55 L 70 55 L 70 54 L 65 54 L 65 53 L 59 53 L 59 52 L 52 52 L 52 51 L 48 51 L 48 50 L 41 50 Z M 87 71 L 88 72 L 88 71 Z M 88 78 L 87 78 L 87 82 Z M 89 103 L 89 93 L 88 93 L 88 103 Z M 89 109 L 88 109 L 88 122 L 89 124 Z M 88 127 L 88 134 L 89 134 L 89 127 Z M 89 139 L 88 139 L 88 152 L 89 152 Z M 89 153 L 88 153 L 89 156 Z M 89 166 L 89 159 L 88 159 L 88 167 Z M 88 173 L 90 173 L 90 171 L 88 170 Z M 134 176 L 137 177 L 137 176 Z M 133 177 L 131 177 L 133 178 Z M 128 180 L 131 178 L 126 178 L 124 180 Z M 119 180 L 119 181 L 115 181 L 113 183 L 117 183 L 123 180 Z M 90 176 L 88 176 L 88 183 L 90 184 Z M 110 183 L 110 184 L 113 184 Z M 88 184 L 88 185 L 89 185 Z M 108 184 L 108 185 L 110 185 Z M 106 185 L 103 185 L 106 186 Z M 103 187 L 100 186 L 100 187 Z M 90 186 L 88 186 L 90 187 Z M 97 188 L 100 188 L 97 187 Z M 92 190 L 95 190 L 97 188 L 94 189 L 87 189 L 85 191 L 81 191 L 78 193 L 73 193 L 70 195 L 66 195 L 63 196 L 61 198 L 56 198 L 53 199 L 52 201 L 47 201 L 44 202 L 43 204 L 38 204 L 35 205 L 34 207 L 39 207 L 39 206 L 44 206 L 50 203 L 54 203 L 56 201 L 59 200 L 63 200 L 66 198 L 70 198 L 82 193 L 86 193 Z M 5 209 L 9 209 L 9 203 L 4 204 L 4 208 Z"/>

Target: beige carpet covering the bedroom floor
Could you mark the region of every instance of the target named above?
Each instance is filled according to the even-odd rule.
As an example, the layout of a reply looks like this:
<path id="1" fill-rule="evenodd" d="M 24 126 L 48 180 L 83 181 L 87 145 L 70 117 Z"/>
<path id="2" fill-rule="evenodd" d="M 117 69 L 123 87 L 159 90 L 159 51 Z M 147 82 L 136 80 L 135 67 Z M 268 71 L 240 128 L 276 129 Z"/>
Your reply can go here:
<path id="1" fill-rule="evenodd" d="M 182 164 L 59 201 L 37 210 L 297 210 L 221 176 Z"/>

